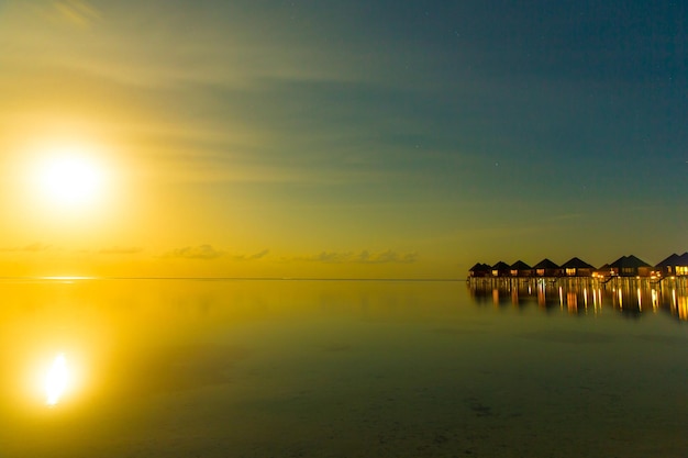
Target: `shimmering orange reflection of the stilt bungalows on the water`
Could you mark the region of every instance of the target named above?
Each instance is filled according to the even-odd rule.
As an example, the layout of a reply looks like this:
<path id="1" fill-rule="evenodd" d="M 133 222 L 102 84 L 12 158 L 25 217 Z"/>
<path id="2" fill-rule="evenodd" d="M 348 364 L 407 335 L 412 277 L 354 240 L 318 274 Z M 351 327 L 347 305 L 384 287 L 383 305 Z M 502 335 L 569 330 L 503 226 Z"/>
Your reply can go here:
<path id="1" fill-rule="evenodd" d="M 628 316 L 640 317 L 644 312 L 665 311 L 688 321 L 688 280 L 665 278 L 653 281 L 643 278 L 611 280 L 572 278 L 471 278 L 468 292 L 478 304 L 498 306 L 529 304 L 572 314 L 600 313 L 609 308 Z"/>

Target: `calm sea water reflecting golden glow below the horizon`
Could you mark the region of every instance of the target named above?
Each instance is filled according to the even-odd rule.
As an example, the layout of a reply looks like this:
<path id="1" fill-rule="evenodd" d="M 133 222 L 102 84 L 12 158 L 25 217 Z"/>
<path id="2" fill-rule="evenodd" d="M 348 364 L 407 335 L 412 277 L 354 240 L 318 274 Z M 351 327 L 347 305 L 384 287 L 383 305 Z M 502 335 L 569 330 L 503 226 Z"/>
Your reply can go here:
<path id="1" fill-rule="evenodd" d="M 688 454 L 681 291 L 268 280 L 0 291 L 1 457 Z M 57 355 L 68 378 L 51 406 Z"/>

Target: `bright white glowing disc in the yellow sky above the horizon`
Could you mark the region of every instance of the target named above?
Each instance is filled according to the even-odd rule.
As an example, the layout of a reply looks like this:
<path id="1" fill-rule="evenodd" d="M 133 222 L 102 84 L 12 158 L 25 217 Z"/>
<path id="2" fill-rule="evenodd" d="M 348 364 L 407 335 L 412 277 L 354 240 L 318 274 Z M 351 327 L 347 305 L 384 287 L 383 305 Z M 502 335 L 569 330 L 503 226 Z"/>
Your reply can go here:
<path id="1" fill-rule="evenodd" d="M 97 160 L 75 148 L 64 148 L 44 157 L 36 167 L 38 192 L 62 206 L 81 206 L 98 200 L 104 172 Z"/>

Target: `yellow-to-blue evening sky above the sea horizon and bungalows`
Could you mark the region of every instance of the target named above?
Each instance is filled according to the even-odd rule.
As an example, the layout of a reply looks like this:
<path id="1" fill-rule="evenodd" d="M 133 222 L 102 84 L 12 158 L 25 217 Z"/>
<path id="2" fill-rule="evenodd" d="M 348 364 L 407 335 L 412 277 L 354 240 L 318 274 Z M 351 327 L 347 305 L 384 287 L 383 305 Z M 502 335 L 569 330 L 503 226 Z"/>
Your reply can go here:
<path id="1" fill-rule="evenodd" d="M 687 18 L 681 1 L 0 0 L 0 276 L 656 264 L 688 250 Z M 78 198 L 82 178 L 41 178 L 56 157 L 93 170 Z"/>

